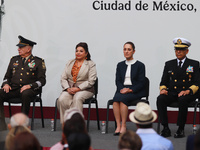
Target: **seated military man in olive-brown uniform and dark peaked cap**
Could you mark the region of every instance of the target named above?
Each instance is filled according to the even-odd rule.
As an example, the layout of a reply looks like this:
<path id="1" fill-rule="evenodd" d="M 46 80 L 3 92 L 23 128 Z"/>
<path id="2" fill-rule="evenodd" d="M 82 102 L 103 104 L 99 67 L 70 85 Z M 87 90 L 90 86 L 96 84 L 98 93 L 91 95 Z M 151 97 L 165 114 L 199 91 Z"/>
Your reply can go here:
<path id="1" fill-rule="evenodd" d="M 44 60 L 33 56 L 32 49 L 37 43 L 18 36 L 19 55 L 11 58 L 0 89 L 0 130 L 6 129 L 3 103 L 6 99 L 20 97 L 22 112 L 29 114 L 30 101 L 39 94 L 46 83 Z"/>

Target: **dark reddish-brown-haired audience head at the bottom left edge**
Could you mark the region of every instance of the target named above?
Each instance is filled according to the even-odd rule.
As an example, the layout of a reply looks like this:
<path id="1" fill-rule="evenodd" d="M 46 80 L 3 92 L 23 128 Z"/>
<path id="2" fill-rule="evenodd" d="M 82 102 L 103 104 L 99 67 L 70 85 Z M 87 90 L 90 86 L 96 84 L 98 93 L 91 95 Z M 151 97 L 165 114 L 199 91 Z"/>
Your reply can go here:
<path id="1" fill-rule="evenodd" d="M 10 150 L 41 150 L 41 146 L 32 133 L 22 132 L 15 136 Z"/>

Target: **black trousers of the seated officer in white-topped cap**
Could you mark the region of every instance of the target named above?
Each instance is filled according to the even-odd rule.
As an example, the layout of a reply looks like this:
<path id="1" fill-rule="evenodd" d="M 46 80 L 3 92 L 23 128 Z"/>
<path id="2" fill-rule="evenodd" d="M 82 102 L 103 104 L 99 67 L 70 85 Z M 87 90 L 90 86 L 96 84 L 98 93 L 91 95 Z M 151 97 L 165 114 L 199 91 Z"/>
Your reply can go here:
<path id="1" fill-rule="evenodd" d="M 157 98 L 157 109 L 158 114 L 161 119 L 162 125 L 168 125 L 168 117 L 167 117 L 167 106 L 172 102 L 178 102 L 178 118 L 177 118 L 177 125 L 179 127 L 185 126 L 187 120 L 187 112 L 188 112 L 188 105 L 190 102 L 194 101 L 197 98 L 196 95 L 186 95 L 178 97 L 177 95 L 159 95 Z"/>

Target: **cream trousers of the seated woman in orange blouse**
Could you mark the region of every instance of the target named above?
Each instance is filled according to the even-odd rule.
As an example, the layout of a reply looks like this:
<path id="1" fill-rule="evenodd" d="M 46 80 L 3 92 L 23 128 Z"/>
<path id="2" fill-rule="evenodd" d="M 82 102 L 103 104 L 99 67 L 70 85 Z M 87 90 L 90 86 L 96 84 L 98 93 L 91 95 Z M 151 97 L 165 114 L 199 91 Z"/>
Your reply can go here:
<path id="1" fill-rule="evenodd" d="M 57 107 L 60 112 L 60 123 L 63 123 L 64 114 L 67 109 L 76 107 L 83 112 L 83 102 L 93 95 L 94 94 L 89 91 L 79 91 L 74 95 L 69 94 L 67 91 L 63 91 L 57 101 Z"/>

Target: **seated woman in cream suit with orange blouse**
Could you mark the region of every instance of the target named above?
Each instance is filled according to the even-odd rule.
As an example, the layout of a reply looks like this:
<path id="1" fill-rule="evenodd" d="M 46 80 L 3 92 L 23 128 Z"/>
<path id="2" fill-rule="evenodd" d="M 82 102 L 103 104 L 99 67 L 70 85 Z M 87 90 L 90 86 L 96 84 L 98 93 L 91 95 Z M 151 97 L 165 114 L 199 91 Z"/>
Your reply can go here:
<path id="1" fill-rule="evenodd" d="M 57 101 L 60 122 L 63 123 L 65 110 L 76 107 L 83 111 L 83 102 L 94 95 L 96 65 L 90 59 L 87 43 L 76 45 L 76 58 L 70 60 L 61 76 L 62 93 Z"/>

